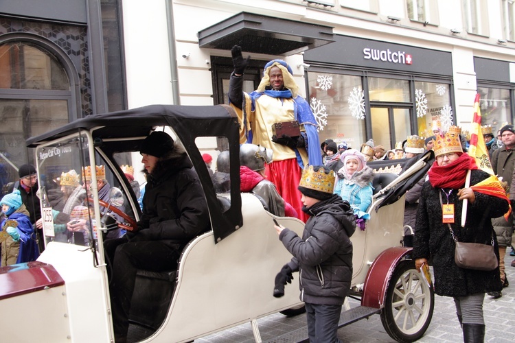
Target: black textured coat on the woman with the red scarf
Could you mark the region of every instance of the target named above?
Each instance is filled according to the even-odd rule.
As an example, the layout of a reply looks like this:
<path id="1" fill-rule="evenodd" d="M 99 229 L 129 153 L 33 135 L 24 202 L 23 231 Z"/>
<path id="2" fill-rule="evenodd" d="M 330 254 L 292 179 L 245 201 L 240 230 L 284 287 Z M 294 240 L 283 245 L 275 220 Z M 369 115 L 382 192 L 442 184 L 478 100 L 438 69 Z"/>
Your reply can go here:
<path id="1" fill-rule="evenodd" d="M 488 174 L 472 170 L 470 185 L 475 185 Z M 461 187 L 460 187 L 461 188 Z M 449 189 L 446 189 L 448 192 Z M 492 218 L 508 211 L 508 203 L 501 198 L 474 191 L 475 200 L 468 203 L 465 228 L 461 228 L 463 201 L 458 200 L 458 189 L 453 189 L 449 203 L 455 204 L 455 222 L 450 224 L 458 241 L 490 244 L 492 239 Z M 468 296 L 470 294 L 500 291 L 502 289 L 499 268 L 491 272 L 459 268 L 454 261 L 455 242 L 447 224 L 442 222 L 442 201 L 447 198 L 441 188 L 434 188 L 428 181 L 422 187 L 422 196 L 417 211 L 417 224 L 413 244 L 413 259 L 433 258 L 435 293 L 440 296 Z M 498 255 L 497 240 L 493 234 L 495 252 Z"/>

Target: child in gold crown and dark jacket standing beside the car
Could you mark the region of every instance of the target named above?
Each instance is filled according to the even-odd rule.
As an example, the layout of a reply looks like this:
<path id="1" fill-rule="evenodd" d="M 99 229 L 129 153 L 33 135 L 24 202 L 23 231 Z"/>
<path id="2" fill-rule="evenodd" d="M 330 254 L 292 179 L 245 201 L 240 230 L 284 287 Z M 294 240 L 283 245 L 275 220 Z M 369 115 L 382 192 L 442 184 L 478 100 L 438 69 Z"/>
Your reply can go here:
<path id="1" fill-rule="evenodd" d="M 273 295 L 284 295 L 292 272 L 299 271 L 300 300 L 306 304 L 310 342 L 338 342 L 341 305 L 352 279 L 352 242 L 356 229 L 348 202 L 333 194 L 334 171 L 327 167 L 304 169 L 299 184 L 302 211 L 310 217 L 302 238 L 284 226 L 275 225 L 293 259 L 275 277 Z"/>

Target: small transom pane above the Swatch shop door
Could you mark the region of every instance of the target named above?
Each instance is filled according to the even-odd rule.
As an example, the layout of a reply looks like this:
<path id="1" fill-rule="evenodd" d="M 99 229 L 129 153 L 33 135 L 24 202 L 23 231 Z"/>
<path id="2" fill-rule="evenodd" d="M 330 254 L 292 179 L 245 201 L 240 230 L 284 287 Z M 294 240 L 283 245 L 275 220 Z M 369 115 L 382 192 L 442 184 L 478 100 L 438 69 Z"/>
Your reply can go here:
<path id="1" fill-rule="evenodd" d="M 371 102 L 411 102 L 407 80 L 368 78 Z"/>

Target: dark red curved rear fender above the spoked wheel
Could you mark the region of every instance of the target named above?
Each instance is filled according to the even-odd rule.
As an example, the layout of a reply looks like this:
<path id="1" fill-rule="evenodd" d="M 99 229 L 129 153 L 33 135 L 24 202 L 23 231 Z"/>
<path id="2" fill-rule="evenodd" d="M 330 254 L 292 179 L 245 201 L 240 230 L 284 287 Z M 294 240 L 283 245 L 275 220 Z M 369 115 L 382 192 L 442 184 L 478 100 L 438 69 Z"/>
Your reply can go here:
<path id="1" fill-rule="evenodd" d="M 413 248 L 396 246 L 381 252 L 367 272 L 361 305 L 380 309 L 385 305 L 387 287 L 399 261 Z"/>

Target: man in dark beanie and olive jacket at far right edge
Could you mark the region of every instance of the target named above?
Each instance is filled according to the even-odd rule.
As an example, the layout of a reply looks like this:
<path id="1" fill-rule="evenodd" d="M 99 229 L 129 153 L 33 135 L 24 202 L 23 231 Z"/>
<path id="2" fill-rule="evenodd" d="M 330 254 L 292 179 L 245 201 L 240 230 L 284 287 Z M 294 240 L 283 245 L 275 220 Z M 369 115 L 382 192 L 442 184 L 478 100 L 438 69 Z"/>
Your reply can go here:
<path id="1" fill-rule="evenodd" d="M 507 183 L 506 191 L 510 191 L 512 184 L 514 163 L 515 163 L 515 130 L 512 125 L 505 125 L 501 128 L 501 141 L 503 146 L 495 150 L 492 154 L 492 169 L 494 174 L 503 178 L 503 182 Z M 512 191 L 510 191 L 511 195 Z M 511 196 L 510 196 L 511 198 Z M 501 282 L 507 287 L 508 280 L 505 274 L 504 255 L 506 247 L 512 244 L 513 234 L 513 216 L 510 215 L 506 221 L 504 217 L 492 219 L 497 242 L 499 244 L 499 272 L 501 272 Z M 488 292 L 488 295 L 494 298 L 500 298 L 503 294 L 499 292 Z"/>

